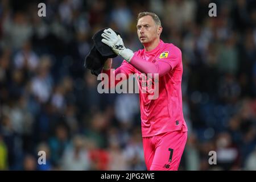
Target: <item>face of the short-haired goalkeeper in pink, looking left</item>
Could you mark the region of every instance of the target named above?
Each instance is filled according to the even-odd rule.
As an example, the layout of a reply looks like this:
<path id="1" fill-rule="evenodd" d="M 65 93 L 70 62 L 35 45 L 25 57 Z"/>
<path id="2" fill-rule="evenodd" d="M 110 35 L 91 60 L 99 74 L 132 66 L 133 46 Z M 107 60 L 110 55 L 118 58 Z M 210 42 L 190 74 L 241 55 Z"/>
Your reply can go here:
<path id="1" fill-rule="evenodd" d="M 142 44 L 148 44 L 160 36 L 162 27 L 158 26 L 150 16 L 143 16 L 137 23 L 137 34 Z"/>

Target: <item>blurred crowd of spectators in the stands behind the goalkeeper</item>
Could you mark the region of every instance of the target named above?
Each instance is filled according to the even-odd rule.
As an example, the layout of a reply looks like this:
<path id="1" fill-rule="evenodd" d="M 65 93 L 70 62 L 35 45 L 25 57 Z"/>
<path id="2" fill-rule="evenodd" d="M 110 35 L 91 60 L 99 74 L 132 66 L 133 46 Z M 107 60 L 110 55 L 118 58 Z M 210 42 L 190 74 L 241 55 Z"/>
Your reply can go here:
<path id="1" fill-rule="evenodd" d="M 217 17 L 208 15 L 211 2 Z M 189 131 L 180 170 L 256 170 L 253 0 L 0 1 L 0 169 L 146 170 L 138 95 L 99 94 L 84 68 L 101 28 L 141 49 L 141 11 L 158 14 L 161 39 L 183 53 Z M 113 67 L 121 63 L 116 57 Z"/>

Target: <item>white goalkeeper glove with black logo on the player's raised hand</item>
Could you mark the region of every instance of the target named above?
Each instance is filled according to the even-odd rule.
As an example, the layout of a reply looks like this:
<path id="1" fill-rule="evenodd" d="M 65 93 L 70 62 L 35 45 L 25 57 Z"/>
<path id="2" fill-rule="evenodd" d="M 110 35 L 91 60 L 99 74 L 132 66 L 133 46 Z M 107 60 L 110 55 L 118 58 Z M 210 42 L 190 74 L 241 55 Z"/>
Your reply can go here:
<path id="1" fill-rule="evenodd" d="M 107 44 L 117 55 L 122 56 L 128 63 L 130 62 L 134 53 L 130 49 L 125 48 L 120 35 L 115 34 L 111 28 L 108 28 L 104 30 L 104 33 L 101 34 L 101 36 L 104 38 L 101 42 Z"/>

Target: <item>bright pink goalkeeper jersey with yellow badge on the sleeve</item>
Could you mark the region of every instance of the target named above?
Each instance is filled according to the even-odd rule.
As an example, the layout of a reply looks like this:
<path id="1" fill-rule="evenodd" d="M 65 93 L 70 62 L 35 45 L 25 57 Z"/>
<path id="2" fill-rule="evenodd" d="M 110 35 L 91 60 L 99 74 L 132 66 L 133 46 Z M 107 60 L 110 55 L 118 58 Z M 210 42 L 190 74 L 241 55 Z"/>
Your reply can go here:
<path id="1" fill-rule="evenodd" d="M 159 84 L 159 97 L 155 100 L 148 98 L 149 95 L 154 93 L 142 93 L 141 90 L 146 85 L 145 75 L 142 75 L 132 64 L 134 59 L 143 59 L 156 63 L 156 61 L 163 61 L 170 64 L 171 69 L 169 72 L 160 76 L 158 79 Z M 110 71 L 102 71 L 110 75 Z M 139 84 L 139 101 L 141 107 L 141 125 L 142 137 L 151 137 L 168 131 L 183 130 L 187 131 L 187 125 L 184 121 L 182 110 L 182 94 L 181 94 L 181 78 L 183 73 L 183 65 L 181 60 L 181 51 L 174 44 L 164 43 L 160 40 L 158 46 L 152 51 L 145 51 L 140 49 L 134 52 L 134 56 L 130 63 L 125 60 L 120 67 L 115 69 L 114 74 L 129 73 L 137 74 L 137 81 Z M 147 76 L 147 75 L 146 75 Z M 147 83 L 151 82 L 154 89 L 155 81 L 151 78 L 146 78 Z M 150 80 L 148 82 L 148 80 Z M 117 82 L 116 82 L 117 84 Z"/>

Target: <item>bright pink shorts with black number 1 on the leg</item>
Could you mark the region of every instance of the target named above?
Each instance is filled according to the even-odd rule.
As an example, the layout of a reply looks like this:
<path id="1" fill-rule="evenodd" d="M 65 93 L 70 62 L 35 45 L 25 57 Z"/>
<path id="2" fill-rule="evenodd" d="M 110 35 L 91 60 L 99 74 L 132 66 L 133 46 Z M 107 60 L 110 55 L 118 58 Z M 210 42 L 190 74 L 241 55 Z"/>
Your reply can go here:
<path id="1" fill-rule="evenodd" d="M 143 137 L 144 159 L 150 171 L 177 171 L 187 142 L 187 131 Z"/>

